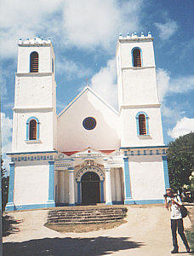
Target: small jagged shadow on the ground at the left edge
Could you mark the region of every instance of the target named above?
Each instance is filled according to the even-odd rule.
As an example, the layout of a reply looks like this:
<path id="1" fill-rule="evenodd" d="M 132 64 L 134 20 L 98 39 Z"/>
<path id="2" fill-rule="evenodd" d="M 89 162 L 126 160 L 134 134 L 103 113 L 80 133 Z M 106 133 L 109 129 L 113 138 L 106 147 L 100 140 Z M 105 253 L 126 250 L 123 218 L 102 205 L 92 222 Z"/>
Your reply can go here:
<path id="1" fill-rule="evenodd" d="M 9 236 L 10 234 L 19 232 L 17 224 L 20 224 L 21 220 L 15 219 L 9 215 L 3 215 L 2 217 L 2 233 L 3 236 Z"/>

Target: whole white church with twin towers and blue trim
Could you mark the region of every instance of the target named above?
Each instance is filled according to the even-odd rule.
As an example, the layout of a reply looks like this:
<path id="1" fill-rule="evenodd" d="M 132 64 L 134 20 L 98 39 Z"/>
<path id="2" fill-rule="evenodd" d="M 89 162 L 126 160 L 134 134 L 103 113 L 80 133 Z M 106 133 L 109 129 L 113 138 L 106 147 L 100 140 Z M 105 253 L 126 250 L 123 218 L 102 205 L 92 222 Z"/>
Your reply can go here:
<path id="1" fill-rule="evenodd" d="M 151 33 L 120 34 L 116 56 L 118 111 L 87 85 L 57 114 L 51 40 L 19 40 L 6 211 L 164 202 Z"/>

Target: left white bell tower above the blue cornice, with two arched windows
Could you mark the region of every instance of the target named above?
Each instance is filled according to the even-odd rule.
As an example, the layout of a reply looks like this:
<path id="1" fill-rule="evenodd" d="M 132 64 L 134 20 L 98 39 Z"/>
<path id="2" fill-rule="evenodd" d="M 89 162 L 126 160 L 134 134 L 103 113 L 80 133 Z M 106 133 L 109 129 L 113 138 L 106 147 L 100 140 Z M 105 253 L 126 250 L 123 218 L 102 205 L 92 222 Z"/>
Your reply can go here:
<path id="1" fill-rule="evenodd" d="M 19 40 L 15 73 L 13 152 L 56 148 L 56 83 L 51 40 Z"/>

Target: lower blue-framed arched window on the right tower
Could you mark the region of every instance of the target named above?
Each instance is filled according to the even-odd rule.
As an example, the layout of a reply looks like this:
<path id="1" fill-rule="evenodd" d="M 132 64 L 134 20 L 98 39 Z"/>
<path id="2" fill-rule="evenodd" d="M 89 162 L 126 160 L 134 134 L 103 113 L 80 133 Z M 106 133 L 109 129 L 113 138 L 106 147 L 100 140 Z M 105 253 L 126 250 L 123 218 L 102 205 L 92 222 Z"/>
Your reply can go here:
<path id="1" fill-rule="evenodd" d="M 136 114 L 137 135 L 149 135 L 148 115 L 145 112 Z"/>

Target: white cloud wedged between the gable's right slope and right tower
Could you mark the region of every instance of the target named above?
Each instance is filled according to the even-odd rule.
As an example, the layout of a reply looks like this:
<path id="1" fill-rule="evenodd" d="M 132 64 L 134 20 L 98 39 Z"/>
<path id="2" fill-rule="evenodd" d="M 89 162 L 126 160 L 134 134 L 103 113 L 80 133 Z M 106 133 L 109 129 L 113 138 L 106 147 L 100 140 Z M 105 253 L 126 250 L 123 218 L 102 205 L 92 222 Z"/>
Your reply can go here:
<path id="1" fill-rule="evenodd" d="M 117 108 L 117 70 L 116 59 L 109 60 L 91 79 L 91 88 L 114 108 Z M 111 93 L 110 93 L 111 92 Z"/>

